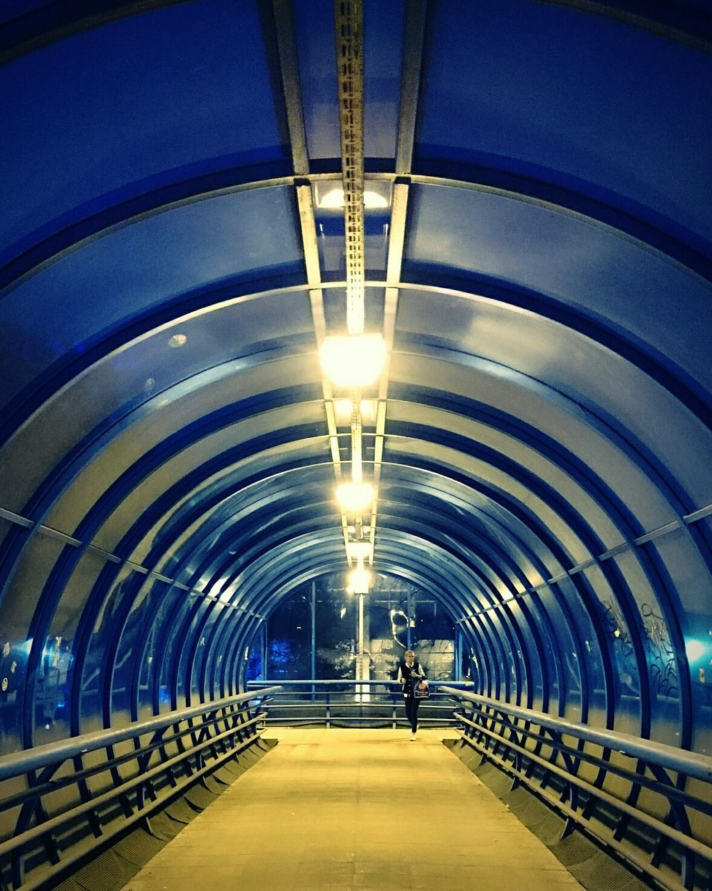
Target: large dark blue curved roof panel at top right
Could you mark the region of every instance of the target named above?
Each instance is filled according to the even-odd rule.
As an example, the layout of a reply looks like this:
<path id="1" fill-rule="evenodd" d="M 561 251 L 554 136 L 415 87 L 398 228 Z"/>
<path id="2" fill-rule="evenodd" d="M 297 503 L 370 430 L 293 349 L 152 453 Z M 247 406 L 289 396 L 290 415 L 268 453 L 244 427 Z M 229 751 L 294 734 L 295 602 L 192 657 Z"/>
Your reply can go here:
<path id="1" fill-rule="evenodd" d="M 709 118 L 677 149 L 708 102 L 705 53 L 590 9 L 518 0 L 438 0 L 426 47 L 419 166 L 503 168 L 712 235 Z"/>

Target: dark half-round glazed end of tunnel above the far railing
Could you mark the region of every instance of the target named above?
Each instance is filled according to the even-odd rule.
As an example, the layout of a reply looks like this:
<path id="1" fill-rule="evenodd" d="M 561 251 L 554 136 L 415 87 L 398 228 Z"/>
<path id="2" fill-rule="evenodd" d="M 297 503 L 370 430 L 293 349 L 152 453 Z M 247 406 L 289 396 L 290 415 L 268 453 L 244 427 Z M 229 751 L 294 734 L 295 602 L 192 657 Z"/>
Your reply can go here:
<path id="1" fill-rule="evenodd" d="M 456 625 L 420 586 L 378 573 L 364 598 L 364 657 L 371 680 L 392 680 L 406 649 L 432 680 L 456 680 Z M 250 649 L 248 680 L 356 680 L 358 597 L 343 573 L 300 585 L 267 619 Z"/>

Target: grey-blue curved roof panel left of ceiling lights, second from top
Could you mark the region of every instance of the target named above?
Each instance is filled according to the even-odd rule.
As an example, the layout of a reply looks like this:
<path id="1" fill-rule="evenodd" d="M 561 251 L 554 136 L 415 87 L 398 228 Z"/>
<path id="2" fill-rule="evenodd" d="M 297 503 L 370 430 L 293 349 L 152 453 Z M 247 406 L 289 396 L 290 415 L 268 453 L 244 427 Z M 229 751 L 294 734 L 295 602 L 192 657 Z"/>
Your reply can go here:
<path id="1" fill-rule="evenodd" d="M 286 188 L 219 195 L 139 219 L 42 268 L 0 302 L 0 324 L 8 334 L 0 356 L 4 401 L 60 360 L 69 343 L 81 354 L 115 326 L 167 302 L 177 301 L 176 315 L 182 315 L 195 308 L 185 306 L 189 295 L 203 307 L 233 297 L 238 282 L 301 271 L 295 221 L 295 201 Z M 216 290 L 211 299 L 201 297 Z M 33 328 L 30 307 L 51 323 Z M 158 315 L 156 321 L 164 320 Z"/>

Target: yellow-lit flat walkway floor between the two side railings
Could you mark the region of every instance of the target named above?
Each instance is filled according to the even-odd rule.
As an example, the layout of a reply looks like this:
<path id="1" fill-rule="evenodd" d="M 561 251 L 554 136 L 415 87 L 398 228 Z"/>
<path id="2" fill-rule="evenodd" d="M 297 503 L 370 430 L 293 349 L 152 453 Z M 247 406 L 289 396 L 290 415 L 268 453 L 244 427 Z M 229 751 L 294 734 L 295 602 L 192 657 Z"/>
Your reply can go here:
<path id="1" fill-rule="evenodd" d="M 279 744 L 125 891 L 581 888 L 446 735 L 269 728 Z"/>

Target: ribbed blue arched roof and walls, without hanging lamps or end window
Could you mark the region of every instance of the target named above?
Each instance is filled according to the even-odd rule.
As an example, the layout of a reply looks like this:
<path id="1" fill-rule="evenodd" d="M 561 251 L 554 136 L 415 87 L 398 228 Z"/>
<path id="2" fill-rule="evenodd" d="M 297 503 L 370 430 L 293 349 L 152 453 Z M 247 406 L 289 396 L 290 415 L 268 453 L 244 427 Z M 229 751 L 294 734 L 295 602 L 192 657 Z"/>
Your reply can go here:
<path id="1" fill-rule="evenodd" d="M 73 732 L 111 722 L 122 652 L 139 690 L 156 629 L 214 630 L 201 691 L 156 674 L 154 708 L 166 684 L 225 693 L 361 532 L 446 605 L 482 691 L 706 750 L 685 655 L 712 634 L 706 6 L 365 0 L 360 286 L 389 358 L 360 393 L 359 519 L 334 495 L 352 394 L 318 357 L 352 283 L 331 0 L 4 4 L 0 630 L 27 653 L 24 745 L 47 640 L 71 642 Z"/>

